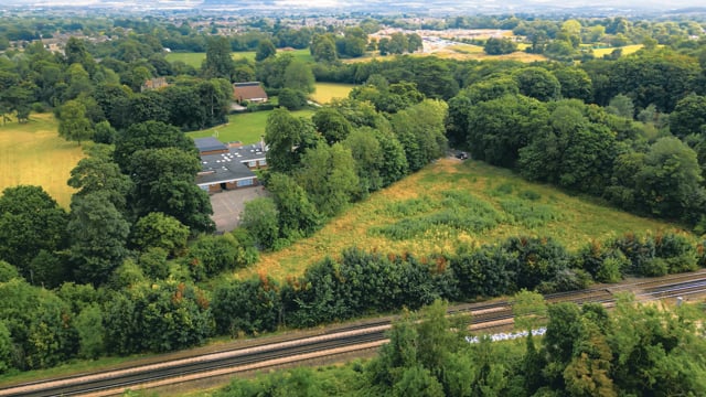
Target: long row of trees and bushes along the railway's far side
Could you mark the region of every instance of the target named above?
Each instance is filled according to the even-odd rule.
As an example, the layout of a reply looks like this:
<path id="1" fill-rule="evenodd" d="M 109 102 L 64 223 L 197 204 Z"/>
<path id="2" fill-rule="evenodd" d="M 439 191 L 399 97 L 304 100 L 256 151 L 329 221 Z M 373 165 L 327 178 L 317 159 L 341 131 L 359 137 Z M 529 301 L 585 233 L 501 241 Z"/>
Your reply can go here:
<path id="1" fill-rule="evenodd" d="M 150 221 L 158 216 L 150 215 Z M 140 224 L 139 229 L 165 229 Z M 548 293 L 617 282 L 625 275 L 662 276 L 706 266 L 703 247 L 660 234 L 592 243 L 576 254 L 542 237 L 511 237 L 498 245 L 460 247 L 452 255 L 383 255 L 349 248 L 278 282 L 259 276 L 217 282 L 212 292 L 193 280 L 253 259 L 237 235 L 202 238 L 175 261 L 152 236 L 142 254 L 125 260 L 101 287 L 74 282 L 54 290 L 29 283 L 0 262 L 0 369 L 45 368 L 74 357 L 167 352 L 215 335 L 259 334 L 303 328 L 438 299 L 474 301 L 521 290 Z M 174 234 L 174 233 L 171 233 Z M 185 238 L 185 237 L 183 237 Z M 183 240 L 183 239 L 182 239 Z M 145 240 L 140 243 L 145 244 Z M 104 247 L 108 250 L 110 247 Z"/>

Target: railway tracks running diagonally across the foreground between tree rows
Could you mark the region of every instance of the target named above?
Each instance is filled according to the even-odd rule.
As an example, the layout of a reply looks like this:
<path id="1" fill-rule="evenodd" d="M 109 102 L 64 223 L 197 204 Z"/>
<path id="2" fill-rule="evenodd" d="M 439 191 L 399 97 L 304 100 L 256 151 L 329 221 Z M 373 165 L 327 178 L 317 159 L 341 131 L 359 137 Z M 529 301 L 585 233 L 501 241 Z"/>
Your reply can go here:
<path id="1" fill-rule="evenodd" d="M 623 286 L 597 287 L 581 291 L 546 296 L 548 302 L 570 301 L 576 303 L 600 302 L 611 304 L 613 294 L 634 291 L 645 299 L 688 297 L 706 291 L 706 270 L 673 275 L 661 279 L 643 280 Z M 509 302 L 461 304 L 449 309 L 452 314 L 470 313 L 474 330 L 492 328 L 496 322 L 511 322 L 512 308 Z M 115 395 L 126 388 L 154 387 L 169 383 L 191 382 L 207 376 L 223 376 L 276 365 L 323 357 L 331 352 L 338 354 L 375 348 L 386 341 L 386 331 L 394 318 L 342 326 L 329 333 L 286 340 L 276 343 L 226 350 L 186 358 L 135 366 L 130 368 L 97 372 L 21 385 L 1 386 L 0 396 L 76 396 Z"/>

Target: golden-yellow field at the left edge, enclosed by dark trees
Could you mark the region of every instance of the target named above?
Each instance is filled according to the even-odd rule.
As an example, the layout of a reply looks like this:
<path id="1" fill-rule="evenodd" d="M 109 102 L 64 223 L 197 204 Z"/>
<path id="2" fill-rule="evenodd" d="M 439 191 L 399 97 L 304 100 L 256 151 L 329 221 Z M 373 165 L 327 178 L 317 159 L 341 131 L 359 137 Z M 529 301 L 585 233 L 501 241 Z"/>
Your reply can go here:
<path id="1" fill-rule="evenodd" d="M 58 124 L 51 114 L 0 126 L 0 191 L 19 184 L 40 185 L 63 207 L 74 190 L 66 185 L 71 170 L 84 158 L 76 142 L 58 137 Z"/>

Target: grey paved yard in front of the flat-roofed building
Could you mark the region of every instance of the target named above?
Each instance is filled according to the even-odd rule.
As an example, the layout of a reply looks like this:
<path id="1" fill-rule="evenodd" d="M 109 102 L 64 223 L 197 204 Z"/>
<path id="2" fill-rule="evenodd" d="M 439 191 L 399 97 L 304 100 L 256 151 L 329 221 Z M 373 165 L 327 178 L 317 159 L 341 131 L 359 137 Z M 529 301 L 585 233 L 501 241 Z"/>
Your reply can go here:
<path id="1" fill-rule="evenodd" d="M 212 194 L 212 218 L 216 223 L 216 230 L 231 232 L 236 228 L 240 223 L 240 213 L 245 207 L 245 203 L 266 195 L 267 192 L 265 192 L 265 187 L 263 186 L 223 191 Z"/>

